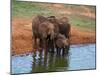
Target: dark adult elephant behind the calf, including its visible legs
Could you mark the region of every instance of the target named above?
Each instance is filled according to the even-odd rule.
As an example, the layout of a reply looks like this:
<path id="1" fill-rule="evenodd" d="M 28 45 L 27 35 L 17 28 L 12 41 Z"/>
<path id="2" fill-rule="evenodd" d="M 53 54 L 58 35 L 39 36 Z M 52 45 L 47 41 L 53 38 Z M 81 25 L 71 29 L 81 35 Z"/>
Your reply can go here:
<path id="1" fill-rule="evenodd" d="M 67 39 L 68 43 L 70 44 L 71 25 L 69 23 L 68 18 L 67 17 L 56 18 L 55 16 L 49 16 L 47 18 L 57 28 L 54 43 L 56 43 L 55 40 L 59 36 L 59 34 L 62 34 Z M 66 49 L 69 49 L 69 44 Z"/>

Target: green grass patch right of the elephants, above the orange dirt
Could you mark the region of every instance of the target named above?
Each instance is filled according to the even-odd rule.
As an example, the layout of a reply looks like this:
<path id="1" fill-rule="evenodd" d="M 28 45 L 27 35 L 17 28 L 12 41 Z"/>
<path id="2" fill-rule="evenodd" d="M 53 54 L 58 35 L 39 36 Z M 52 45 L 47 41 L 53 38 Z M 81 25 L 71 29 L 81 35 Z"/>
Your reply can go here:
<path id="1" fill-rule="evenodd" d="M 70 23 L 81 29 L 95 31 L 95 19 L 85 17 L 82 15 L 69 15 Z"/>

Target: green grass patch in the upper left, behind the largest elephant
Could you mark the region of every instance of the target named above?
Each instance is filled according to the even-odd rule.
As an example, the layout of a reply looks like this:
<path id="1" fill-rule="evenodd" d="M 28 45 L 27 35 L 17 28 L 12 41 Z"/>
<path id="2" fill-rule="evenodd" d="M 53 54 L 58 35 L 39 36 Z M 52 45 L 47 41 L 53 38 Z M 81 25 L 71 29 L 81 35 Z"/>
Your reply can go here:
<path id="1" fill-rule="evenodd" d="M 41 3 L 19 2 L 13 0 L 12 2 L 12 16 L 17 17 L 32 17 L 34 15 L 54 15 L 52 10 L 49 10 Z"/>

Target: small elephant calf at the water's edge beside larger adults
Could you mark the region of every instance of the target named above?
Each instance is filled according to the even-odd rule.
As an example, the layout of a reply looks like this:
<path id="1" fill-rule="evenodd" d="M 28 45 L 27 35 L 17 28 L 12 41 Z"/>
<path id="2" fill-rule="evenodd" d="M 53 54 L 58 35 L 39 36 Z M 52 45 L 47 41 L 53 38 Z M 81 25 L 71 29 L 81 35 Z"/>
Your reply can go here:
<path id="1" fill-rule="evenodd" d="M 58 34 L 58 36 L 56 37 L 56 40 L 55 40 L 55 47 L 56 47 L 58 55 L 60 55 L 61 49 L 63 50 L 62 51 L 63 55 L 66 52 L 68 53 L 68 50 L 69 50 L 68 49 L 68 47 L 69 47 L 69 40 L 68 40 L 68 38 L 66 38 L 65 35 Z"/>

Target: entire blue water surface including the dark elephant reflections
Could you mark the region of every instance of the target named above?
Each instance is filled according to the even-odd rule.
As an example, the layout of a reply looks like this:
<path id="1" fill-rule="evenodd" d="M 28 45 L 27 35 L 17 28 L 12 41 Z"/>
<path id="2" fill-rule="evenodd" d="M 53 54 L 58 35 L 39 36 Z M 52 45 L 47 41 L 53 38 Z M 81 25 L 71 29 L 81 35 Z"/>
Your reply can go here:
<path id="1" fill-rule="evenodd" d="M 12 74 L 95 69 L 95 44 L 72 45 L 69 54 L 37 51 L 12 56 Z"/>

